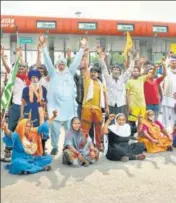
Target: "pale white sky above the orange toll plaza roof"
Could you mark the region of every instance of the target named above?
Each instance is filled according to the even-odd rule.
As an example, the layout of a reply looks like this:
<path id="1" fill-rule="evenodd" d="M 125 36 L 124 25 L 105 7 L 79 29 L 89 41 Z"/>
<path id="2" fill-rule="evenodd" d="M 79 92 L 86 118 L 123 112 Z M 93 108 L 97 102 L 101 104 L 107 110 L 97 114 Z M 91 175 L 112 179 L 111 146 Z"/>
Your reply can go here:
<path id="1" fill-rule="evenodd" d="M 1 15 L 176 22 L 176 1 L 1 1 Z"/>

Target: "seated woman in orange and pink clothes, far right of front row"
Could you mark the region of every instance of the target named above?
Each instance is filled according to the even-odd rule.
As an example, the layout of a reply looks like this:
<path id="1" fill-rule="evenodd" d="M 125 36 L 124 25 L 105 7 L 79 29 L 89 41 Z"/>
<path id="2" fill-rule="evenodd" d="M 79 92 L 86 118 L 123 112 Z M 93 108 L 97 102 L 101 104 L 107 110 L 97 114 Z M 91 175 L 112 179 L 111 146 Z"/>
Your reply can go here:
<path id="1" fill-rule="evenodd" d="M 138 141 L 145 144 L 148 153 L 172 151 L 172 135 L 155 120 L 152 110 L 148 110 L 145 118 L 139 120 L 138 133 Z"/>

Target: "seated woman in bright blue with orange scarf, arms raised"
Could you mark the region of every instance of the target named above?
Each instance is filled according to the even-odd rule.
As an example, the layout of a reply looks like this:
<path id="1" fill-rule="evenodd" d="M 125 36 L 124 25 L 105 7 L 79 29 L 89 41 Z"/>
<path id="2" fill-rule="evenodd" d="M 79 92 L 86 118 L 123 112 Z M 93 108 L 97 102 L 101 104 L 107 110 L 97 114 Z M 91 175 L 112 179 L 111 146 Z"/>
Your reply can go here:
<path id="1" fill-rule="evenodd" d="M 51 156 L 42 156 L 41 134 L 49 132 L 49 124 L 56 116 L 57 112 L 54 111 L 53 117 L 37 128 L 33 128 L 30 120 L 22 119 L 15 132 L 11 132 L 6 122 L 2 121 L 1 128 L 5 134 L 3 141 L 7 146 L 13 146 L 12 162 L 6 166 L 9 173 L 26 175 L 51 170 Z"/>

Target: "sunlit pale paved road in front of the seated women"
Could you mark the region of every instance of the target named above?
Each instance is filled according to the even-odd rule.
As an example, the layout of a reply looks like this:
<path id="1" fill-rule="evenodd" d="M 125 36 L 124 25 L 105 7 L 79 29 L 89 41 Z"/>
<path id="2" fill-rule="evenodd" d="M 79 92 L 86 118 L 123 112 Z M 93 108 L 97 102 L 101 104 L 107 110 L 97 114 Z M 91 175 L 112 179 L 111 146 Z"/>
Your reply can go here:
<path id="1" fill-rule="evenodd" d="M 60 145 L 63 142 L 63 135 Z M 49 146 L 50 148 L 50 146 Z M 111 162 L 103 155 L 88 168 L 62 165 L 28 176 L 9 175 L 1 165 L 2 203 L 175 203 L 176 149 L 143 162 Z"/>

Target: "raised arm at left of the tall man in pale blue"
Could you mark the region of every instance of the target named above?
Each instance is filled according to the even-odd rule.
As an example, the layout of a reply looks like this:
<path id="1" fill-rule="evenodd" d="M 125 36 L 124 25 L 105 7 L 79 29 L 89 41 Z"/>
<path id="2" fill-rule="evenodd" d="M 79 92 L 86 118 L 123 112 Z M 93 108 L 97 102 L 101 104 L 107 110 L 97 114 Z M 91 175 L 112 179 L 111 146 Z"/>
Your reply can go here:
<path id="1" fill-rule="evenodd" d="M 39 37 L 39 40 L 40 40 L 40 44 L 42 46 L 42 52 L 43 52 L 45 66 L 47 68 L 49 76 L 52 77 L 52 75 L 55 73 L 55 67 L 51 61 L 51 58 L 50 58 L 48 51 L 47 51 L 47 48 L 46 48 L 46 38 L 45 38 L 45 36 L 41 35 Z"/>

